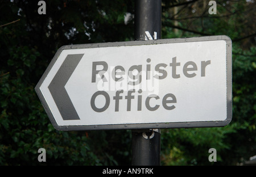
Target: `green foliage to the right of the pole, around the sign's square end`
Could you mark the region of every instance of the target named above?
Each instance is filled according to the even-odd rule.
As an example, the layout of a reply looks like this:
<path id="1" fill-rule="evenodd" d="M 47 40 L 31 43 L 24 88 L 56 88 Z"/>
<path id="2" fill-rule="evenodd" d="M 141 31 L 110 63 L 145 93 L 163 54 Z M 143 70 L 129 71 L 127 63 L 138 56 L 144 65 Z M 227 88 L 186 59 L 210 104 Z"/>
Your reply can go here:
<path id="1" fill-rule="evenodd" d="M 164 7 L 170 2 L 162 1 Z M 162 132 L 164 165 L 209 165 L 208 149 L 217 150 L 215 165 L 236 165 L 255 155 L 256 83 L 253 5 L 245 1 L 216 1 L 217 14 L 209 15 L 204 2 L 188 2 L 163 11 L 162 38 L 196 34 L 227 35 L 232 39 L 233 118 L 223 128 L 172 129 Z M 179 5 L 179 6 L 178 6 Z M 191 15 L 191 9 L 195 13 Z M 175 26 L 177 28 L 174 31 Z M 234 155 L 235 154 L 235 155 Z"/>

